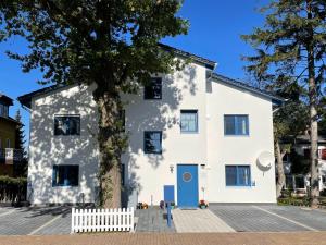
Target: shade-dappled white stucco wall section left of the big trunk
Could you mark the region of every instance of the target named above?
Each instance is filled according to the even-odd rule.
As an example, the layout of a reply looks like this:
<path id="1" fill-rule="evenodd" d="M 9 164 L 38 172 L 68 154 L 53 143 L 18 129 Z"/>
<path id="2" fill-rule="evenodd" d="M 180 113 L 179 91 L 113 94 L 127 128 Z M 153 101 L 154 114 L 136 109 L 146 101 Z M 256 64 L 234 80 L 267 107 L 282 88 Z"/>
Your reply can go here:
<path id="1" fill-rule="evenodd" d="M 32 204 L 95 201 L 97 109 L 91 87 L 71 86 L 32 101 L 28 194 Z M 80 136 L 54 136 L 55 114 L 80 114 Z M 52 187 L 53 164 L 78 164 L 77 187 Z"/>

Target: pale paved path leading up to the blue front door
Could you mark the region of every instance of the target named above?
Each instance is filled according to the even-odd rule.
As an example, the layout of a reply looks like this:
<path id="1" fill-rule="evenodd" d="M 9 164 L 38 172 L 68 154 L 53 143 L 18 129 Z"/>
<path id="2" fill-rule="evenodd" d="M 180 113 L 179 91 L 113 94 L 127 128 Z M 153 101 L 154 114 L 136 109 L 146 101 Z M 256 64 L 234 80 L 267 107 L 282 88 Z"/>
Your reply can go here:
<path id="1" fill-rule="evenodd" d="M 209 209 L 173 210 L 173 221 L 178 233 L 235 232 Z"/>

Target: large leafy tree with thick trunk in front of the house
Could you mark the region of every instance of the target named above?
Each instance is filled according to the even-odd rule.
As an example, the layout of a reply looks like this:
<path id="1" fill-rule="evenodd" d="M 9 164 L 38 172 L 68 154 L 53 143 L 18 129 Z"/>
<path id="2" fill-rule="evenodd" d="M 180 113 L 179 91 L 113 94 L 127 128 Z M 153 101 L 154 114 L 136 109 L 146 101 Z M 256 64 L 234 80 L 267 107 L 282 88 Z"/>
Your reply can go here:
<path id="1" fill-rule="evenodd" d="M 0 40 L 28 42 L 24 72 L 39 69 L 42 84 L 96 84 L 99 111 L 100 203 L 121 205 L 121 155 L 126 146 L 121 93 L 136 93 L 152 74 L 170 73 L 179 62 L 158 42 L 186 34 L 176 16 L 180 0 L 2 0 Z"/>

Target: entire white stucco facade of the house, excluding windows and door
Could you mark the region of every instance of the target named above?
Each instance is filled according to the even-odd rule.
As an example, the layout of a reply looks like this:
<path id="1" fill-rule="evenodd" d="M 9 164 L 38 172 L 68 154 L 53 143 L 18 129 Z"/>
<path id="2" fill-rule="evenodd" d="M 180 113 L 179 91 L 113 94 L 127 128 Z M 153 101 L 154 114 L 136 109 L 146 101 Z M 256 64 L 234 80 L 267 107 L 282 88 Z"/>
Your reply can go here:
<path id="1" fill-rule="evenodd" d="M 159 205 L 163 186 L 177 186 L 177 164 L 197 164 L 199 199 L 211 203 L 275 203 L 274 164 L 258 168 L 262 151 L 274 152 L 272 99 L 218 81 L 206 83 L 206 69 L 190 63 L 162 76 L 162 100 L 145 100 L 143 91 L 123 95 L 129 147 L 125 194 L 129 206 Z M 33 99 L 28 196 L 33 204 L 96 201 L 99 151 L 93 87 L 71 86 Z M 199 132 L 180 133 L 180 110 L 198 110 Z M 54 114 L 80 114 L 80 136 L 54 136 Z M 248 114 L 249 136 L 224 136 L 224 114 Z M 143 131 L 162 131 L 162 155 L 143 152 Z M 52 187 L 53 164 L 79 164 L 78 187 Z M 249 164 L 249 187 L 226 187 L 225 164 Z M 203 192 L 204 191 L 204 192 Z M 175 189 L 176 200 L 177 191 Z"/>

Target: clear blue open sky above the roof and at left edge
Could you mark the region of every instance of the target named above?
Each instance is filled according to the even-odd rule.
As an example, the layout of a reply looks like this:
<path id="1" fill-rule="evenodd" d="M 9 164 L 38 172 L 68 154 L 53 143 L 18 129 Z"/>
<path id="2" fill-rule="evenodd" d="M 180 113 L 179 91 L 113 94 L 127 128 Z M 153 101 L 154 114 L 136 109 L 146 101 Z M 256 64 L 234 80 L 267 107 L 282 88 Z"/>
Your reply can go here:
<path id="1" fill-rule="evenodd" d="M 241 39 L 241 34 L 249 34 L 253 27 L 263 24 L 263 16 L 256 8 L 267 0 L 185 0 L 179 13 L 189 20 L 187 36 L 166 38 L 162 42 L 208 58 L 218 63 L 216 72 L 223 75 L 246 79 L 244 62 L 241 54 L 249 54 L 252 49 Z M 41 88 L 36 83 L 41 74 L 37 71 L 25 74 L 20 62 L 7 58 L 4 51 L 26 52 L 26 47 L 18 38 L 0 44 L 0 91 L 16 99 L 18 96 Z M 29 113 L 17 101 L 11 108 L 14 117 L 17 109 L 23 114 L 25 134 L 29 135 Z"/>

